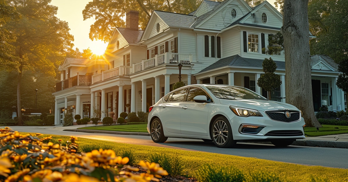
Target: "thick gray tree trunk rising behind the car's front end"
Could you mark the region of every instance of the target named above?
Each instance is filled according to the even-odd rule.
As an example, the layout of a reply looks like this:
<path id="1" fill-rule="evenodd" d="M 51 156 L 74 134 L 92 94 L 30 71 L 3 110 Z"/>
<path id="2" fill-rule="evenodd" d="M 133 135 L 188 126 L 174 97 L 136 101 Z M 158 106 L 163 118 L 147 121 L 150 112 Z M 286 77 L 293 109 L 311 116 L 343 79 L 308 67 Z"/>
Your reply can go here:
<path id="1" fill-rule="evenodd" d="M 309 52 L 308 0 L 284 0 L 286 103 L 302 111 L 307 127 L 322 127 L 314 115 Z"/>

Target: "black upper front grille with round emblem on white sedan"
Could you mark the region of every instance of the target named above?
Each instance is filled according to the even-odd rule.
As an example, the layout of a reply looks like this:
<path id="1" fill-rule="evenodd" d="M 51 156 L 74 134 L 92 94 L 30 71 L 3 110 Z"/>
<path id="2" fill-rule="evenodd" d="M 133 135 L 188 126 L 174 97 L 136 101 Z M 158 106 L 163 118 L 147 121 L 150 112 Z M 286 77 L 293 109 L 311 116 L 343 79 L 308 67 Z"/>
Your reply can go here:
<path id="1" fill-rule="evenodd" d="M 290 112 L 290 118 L 287 118 L 285 116 L 285 112 Z M 280 121 L 280 122 L 294 122 L 299 121 L 300 118 L 300 112 L 299 111 L 291 111 L 291 110 L 274 110 L 274 111 L 265 111 L 267 116 L 271 118 L 274 121 Z"/>

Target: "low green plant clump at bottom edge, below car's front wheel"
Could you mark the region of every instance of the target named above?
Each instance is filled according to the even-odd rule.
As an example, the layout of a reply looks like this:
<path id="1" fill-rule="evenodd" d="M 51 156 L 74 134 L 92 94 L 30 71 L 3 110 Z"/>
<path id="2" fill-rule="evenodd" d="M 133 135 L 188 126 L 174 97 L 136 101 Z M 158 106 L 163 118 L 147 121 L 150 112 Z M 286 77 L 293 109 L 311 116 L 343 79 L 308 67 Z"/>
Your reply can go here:
<path id="1" fill-rule="evenodd" d="M 204 164 L 198 168 L 196 179 L 209 182 L 243 182 L 245 178 L 243 172 L 235 167 Z"/>

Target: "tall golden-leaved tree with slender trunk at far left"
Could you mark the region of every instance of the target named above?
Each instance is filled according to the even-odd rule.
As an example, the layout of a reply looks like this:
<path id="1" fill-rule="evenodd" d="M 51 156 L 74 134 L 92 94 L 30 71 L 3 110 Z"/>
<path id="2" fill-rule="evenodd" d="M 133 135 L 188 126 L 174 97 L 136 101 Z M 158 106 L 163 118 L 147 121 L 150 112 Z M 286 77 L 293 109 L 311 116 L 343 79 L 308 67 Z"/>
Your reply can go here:
<path id="1" fill-rule="evenodd" d="M 2 58 L 0 62 L 8 70 L 17 72 L 17 113 L 22 124 L 21 84 L 24 70 L 40 71 L 55 76 L 55 68 L 65 56 L 65 50 L 72 47 L 73 37 L 68 23 L 54 15 L 57 7 L 49 5 L 50 0 L 5 0 L 16 9 L 21 17 L 9 21 L 4 29 L 13 33 L 12 59 Z M 8 64 L 11 63 L 11 64 Z"/>

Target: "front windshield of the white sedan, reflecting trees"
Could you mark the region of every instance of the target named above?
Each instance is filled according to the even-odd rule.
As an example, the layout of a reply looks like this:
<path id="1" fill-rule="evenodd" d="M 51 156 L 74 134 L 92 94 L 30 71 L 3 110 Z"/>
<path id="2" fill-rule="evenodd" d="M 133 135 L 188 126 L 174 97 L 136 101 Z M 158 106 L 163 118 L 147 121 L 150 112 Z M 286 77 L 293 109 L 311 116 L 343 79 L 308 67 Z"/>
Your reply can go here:
<path id="1" fill-rule="evenodd" d="M 206 86 L 213 95 L 220 99 L 237 100 L 237 99 L 258 99 L 267 100 L 261 95 L 243 87 L 234 87 L 229 85 Z"/>

